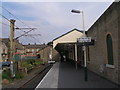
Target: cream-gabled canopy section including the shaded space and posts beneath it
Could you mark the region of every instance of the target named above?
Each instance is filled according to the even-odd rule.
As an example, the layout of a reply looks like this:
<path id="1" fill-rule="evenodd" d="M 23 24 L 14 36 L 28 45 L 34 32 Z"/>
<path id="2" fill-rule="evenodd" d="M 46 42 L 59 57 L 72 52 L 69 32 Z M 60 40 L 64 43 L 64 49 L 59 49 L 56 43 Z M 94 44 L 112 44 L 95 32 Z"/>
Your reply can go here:
<path id="1" fill-rule="evenodd" d="M 69 60 L 76 68 L 84 64 L 82 47 L 77 45 L 77 39 L 83 36 L 82 31 L 73 29 L 53 40 L 53 48 L 60 53 L 61 61 Z"/>

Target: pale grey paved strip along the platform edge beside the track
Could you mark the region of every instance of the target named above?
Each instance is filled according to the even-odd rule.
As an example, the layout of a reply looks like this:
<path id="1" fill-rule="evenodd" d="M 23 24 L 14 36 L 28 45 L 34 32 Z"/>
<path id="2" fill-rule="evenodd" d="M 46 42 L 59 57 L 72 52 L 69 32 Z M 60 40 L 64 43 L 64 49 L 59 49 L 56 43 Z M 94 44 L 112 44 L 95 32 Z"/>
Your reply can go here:
<path id="1" fill-rule="evenodd" d="M 59 62 L 56 62 L 53 67 L 49 70 L 46 76 L 36 87 L 38 88 L 57 88 L 58 87 L 58 75 L 59 75 Z"/>

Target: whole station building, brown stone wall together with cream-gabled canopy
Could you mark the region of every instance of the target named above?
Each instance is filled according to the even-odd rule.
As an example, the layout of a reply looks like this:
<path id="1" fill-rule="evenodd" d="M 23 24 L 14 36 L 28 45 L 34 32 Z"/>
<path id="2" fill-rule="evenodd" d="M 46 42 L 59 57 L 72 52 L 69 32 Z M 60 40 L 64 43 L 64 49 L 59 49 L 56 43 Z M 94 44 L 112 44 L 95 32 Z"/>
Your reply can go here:
<path id="1" fill-rule="evenodd" d="M 88 69 L 120 84 L 120 2 L 113 2 L 86 35 L 94 39 L 93 46 L 86 46 Z M 82 37 L 82 31 L 73 29 L 53 40 L 53 48 L 61 58 L 65 55 L 66 60 L 74 62 L 76 69 L 78 65 L 84 66 L 83 49 L 77 42 Z"/>

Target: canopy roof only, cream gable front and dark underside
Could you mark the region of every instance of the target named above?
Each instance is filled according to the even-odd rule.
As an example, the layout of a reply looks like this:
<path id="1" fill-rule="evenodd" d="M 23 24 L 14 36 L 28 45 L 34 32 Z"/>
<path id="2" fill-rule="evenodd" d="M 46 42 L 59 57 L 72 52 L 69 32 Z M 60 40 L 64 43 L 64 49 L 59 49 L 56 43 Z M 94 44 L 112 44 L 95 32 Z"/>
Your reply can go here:
<path id="1" fill-rule="evenodd" d="M 83 37 L 84 34 L 78 29 L 73 29 L 58 38 L 53 40 L 53 48 L 57 51 L 65 51 L 66 49 L 74 47 L 74 44 L 77 43 L 77 39 Z"/>

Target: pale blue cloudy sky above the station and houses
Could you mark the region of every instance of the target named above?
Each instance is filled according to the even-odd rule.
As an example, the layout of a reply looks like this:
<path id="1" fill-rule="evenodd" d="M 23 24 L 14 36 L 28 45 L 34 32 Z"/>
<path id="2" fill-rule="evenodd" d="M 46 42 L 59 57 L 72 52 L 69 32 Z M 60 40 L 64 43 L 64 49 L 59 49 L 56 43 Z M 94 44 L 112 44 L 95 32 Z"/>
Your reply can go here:
<path id="1" fill-rule="evenodd" d="M 0 14 L 7 19 L 14 19 L 19 28 L 36 28 L 29 34 L 19 38 L 22 44 L 48 43 L 60 35 L 77 28 L 83 30 L 82 14 L 72 13 L 72 9 L 84 12 L 85 30 L 87 31 L 94 22 L 104 13 L 112 2 L 2 2 Z M 17 18 L 16 18 L 17 17 Z M 2 18 L 2 34 L 0 37 L 10 37 L 10 23 Z M 30 29 L 15 30 L 15 37 Z M 36 34 L 41 34 L 38 36 Z"/>

